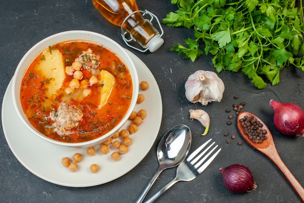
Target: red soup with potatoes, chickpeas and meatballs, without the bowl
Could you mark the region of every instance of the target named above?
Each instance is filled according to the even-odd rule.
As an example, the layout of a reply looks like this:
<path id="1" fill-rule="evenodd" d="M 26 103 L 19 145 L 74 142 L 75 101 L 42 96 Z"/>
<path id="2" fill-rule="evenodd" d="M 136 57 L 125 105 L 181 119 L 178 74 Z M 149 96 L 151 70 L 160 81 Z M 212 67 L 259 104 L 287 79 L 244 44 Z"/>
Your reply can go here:
<path id="1" fill-rule="evenodd" d="M 67 41 L 34 59 L 23 76 L 20 100 L 39 132 L 79 143 L 113 129 L 128 111 L 132 90 L 118 55 L 90 41 Z"/>

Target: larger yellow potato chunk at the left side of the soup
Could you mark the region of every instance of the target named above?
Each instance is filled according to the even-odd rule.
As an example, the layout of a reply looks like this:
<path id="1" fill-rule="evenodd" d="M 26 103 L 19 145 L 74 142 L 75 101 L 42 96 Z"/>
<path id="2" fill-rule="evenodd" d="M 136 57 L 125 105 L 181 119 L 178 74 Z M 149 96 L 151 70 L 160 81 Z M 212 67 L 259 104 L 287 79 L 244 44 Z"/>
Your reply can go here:
<path id="1" fill-rule="evenodd" d="M 51 98 L 56 95 L 58 90 L 63 86 L 66 78 L 64 59 L 59 50 L 51 50 L 47 48 L 43 51 L 43 59 L 37 65 L 36 70 L 41 71 L 47 86 L 46 96 Z"/>

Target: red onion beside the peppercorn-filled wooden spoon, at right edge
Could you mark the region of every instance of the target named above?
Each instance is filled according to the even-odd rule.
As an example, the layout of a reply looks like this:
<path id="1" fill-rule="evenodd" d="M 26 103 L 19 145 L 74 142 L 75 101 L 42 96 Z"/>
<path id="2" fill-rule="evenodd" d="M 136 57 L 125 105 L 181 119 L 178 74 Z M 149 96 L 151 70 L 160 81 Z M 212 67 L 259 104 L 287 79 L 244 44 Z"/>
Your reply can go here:
<path id="1" fill-rule="evenodd" d="M 274 110 L 274 125 L 286 135 L 304 136 L 304 112 L 296 104 L 280 103 L 270 100 L 270 107 Z"/>

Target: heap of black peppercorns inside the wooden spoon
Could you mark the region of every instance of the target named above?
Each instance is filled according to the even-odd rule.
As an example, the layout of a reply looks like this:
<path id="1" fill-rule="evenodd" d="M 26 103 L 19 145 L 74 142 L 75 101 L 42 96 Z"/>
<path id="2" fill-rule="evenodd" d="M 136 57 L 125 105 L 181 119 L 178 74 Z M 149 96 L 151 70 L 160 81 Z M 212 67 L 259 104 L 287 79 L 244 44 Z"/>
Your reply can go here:
<path id="1" fill-rule="evenodd" d="M 267 130 L 263 129 L 263 124 L 258 121 L 254 116 L 245 115 L 239 119 L 242 127 L 244 128 L 244 134 L 248 135 L 248 138 L 253 143 L 262 143 L 267 139 Z"/>

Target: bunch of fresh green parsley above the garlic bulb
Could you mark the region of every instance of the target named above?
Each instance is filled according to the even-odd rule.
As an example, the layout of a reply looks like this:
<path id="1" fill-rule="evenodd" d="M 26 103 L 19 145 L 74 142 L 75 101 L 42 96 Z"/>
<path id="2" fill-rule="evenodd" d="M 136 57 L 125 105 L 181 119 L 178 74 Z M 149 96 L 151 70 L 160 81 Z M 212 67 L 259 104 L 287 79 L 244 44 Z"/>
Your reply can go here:
<path id="1" fill-rule="evenodd" d="M 304 72 L 304 15 L 302 0 L 171 0 L 178 10 L 163 23 L 193 28 L 196 39 L 184 40 L 171 51 L 194 61 L 207 55 L 218 73 L 246 74 L 258 89 L 280 81 L 280 70 L 291 64 Z M 265 78 L 266 77 L 266 78 Z M 263 79 L 264 78 L 264 79 Z"/>

